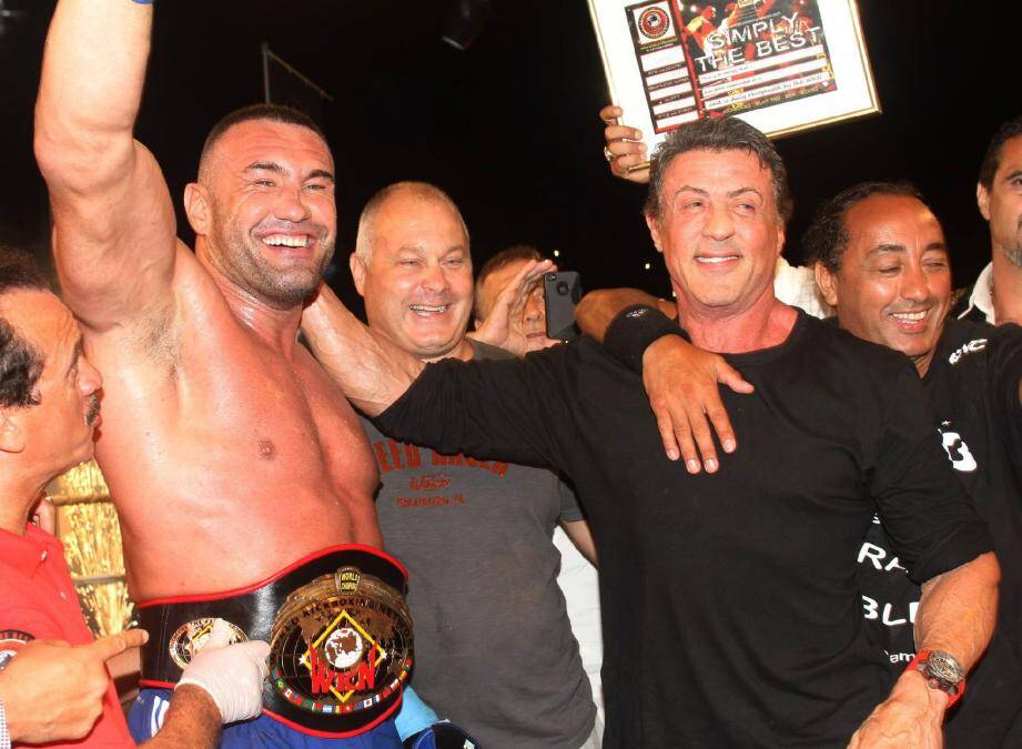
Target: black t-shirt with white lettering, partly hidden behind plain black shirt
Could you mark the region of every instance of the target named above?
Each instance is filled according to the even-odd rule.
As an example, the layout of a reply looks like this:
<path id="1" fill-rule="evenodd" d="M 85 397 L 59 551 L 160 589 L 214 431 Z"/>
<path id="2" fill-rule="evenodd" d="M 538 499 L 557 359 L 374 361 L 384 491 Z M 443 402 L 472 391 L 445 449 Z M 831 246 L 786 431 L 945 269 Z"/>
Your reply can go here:
<path id="1" fill-rule="evenodd" d="M 1001 563 L 998 629 L 949 716 L 949 746 L 999 747 L 1022 731 L 1022 328 L 949 320 L 923 386 L 955 475 L 990 525 Z M 900 567 L 881 525 L 859 553 L 867 631 L 895 678 L 912 659 L 919 587 Z M 1022 737 L 1016 736 L 1019 740 Z"/>

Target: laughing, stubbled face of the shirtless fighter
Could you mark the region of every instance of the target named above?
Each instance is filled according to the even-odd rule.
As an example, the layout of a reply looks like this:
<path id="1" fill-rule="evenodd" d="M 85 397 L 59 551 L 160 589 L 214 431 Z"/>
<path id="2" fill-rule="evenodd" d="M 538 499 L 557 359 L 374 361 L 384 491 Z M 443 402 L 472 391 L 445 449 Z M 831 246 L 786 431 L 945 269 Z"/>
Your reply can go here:
<path id="1" fill-rule="evenodd" d="M 212 262 L 272 306 L 301 304 L 334 252 L 326 143 L 300 125 L 255 120 L 229 129 L 210 159 Z"/>

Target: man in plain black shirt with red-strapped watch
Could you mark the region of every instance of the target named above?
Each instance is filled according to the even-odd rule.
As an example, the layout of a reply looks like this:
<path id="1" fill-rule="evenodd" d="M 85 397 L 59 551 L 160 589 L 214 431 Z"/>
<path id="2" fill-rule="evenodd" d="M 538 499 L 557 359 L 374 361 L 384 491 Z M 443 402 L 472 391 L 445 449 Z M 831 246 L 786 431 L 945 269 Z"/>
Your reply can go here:
<path id="1" fill-rule="evenodd" d="M 879 508 L 927 584 L 921 646 L 975 661 L 998 564 L 918 378 L 900 355 L 773 297 L 790 196 L 761 133 L 694 123 L 652 172 L 647 222 L 684 326 L 756 388 L 724 393 L 726 407 L 741 398 L 745 436 L 718 475 L 662 455 L 639 377 L 591 340 L 424 366 L 325 293 L 303 330 L 382 429 L 575 482 L 600 558 L 605 746 L 882 746 L 892 733 L 935 746 L 949 696 L 918 671 L 883 694 L 854 563 Z"/>

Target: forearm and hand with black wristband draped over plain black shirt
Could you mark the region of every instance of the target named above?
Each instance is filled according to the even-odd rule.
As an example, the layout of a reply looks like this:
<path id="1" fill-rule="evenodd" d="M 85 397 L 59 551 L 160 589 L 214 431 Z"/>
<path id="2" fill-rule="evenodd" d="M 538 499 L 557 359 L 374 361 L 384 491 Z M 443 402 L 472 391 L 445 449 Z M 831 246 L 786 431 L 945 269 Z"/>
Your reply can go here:
<path id="1" fill-rule="evenodd" d="M 608 289 L 586 294 L 575 320 L 583 333 L 642 374 L 667 457 L 682 458 L 690 474 L 701 468 L 714 473 L 720 462 L 712 432 L 726 453 L 738 447 L 718 383 L 736 393 L 751 393 L 752 386 L 722 356 L 682 338 L 668 317 L 676 312 L 670 302 L 646 292 Z"/>

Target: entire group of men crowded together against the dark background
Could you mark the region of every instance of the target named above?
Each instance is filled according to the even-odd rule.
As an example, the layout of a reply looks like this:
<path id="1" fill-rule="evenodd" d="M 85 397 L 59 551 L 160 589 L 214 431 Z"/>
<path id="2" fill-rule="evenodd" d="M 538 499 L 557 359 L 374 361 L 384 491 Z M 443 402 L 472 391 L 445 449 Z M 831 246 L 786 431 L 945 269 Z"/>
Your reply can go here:
<path id="1" fill-rule="evenodd" d="M 210 132 L 186 246 L 133 135 L 151 31 L 57 3 L 60 296 L 0 251 L 0 749 L 1022 746 L 1022 118 L 957 293 L 911 184 L 822 203 L 791 267 L 769 139 L 702 120 L 647 163 L 606 108 L 674 298 L 593 292 L 565 344 L 554 264 L 474 276 L 423 182 L 364 206 L 348 312 L 333 156 L 284 107 Z M 44 497 L 93 454 L 141 625 L 100 639 Z"/>

